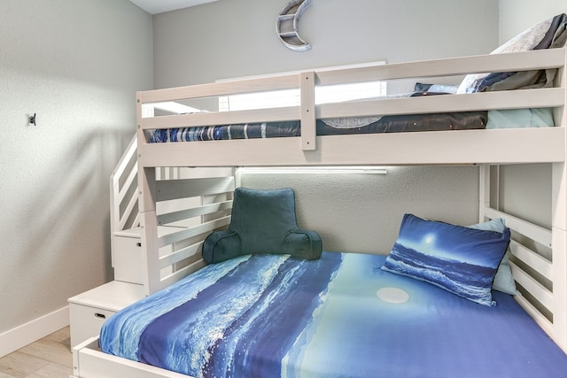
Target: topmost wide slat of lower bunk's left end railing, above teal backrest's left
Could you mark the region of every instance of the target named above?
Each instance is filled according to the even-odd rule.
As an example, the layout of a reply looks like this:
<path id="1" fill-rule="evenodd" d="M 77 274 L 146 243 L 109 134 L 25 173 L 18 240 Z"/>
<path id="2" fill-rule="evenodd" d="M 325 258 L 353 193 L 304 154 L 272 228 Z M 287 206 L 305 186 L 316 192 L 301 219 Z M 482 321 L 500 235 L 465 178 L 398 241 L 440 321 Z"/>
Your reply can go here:
<path id="1" fill-rule="evenodd" d="M 157 201 L 206 196 L 234 190 L 234 177 L 156 181 Z"/>

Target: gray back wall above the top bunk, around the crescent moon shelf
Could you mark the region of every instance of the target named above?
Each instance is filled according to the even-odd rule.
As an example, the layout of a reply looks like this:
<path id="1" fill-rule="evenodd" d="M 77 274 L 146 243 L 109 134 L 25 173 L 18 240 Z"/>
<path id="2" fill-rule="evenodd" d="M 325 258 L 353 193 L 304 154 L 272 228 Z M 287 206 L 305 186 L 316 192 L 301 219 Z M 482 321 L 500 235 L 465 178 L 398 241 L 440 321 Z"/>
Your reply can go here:
<path id="1" fill-rule="evenodd" d="M 480 54 L 498 45 L 493 0 L 325 0 L 314 1 L 299 22 L 312 49 L 292 51 L 276 35 L 276 16 L 288 2 L 221 0 L 154 16 L 156 88 L 376 60 Z"/>

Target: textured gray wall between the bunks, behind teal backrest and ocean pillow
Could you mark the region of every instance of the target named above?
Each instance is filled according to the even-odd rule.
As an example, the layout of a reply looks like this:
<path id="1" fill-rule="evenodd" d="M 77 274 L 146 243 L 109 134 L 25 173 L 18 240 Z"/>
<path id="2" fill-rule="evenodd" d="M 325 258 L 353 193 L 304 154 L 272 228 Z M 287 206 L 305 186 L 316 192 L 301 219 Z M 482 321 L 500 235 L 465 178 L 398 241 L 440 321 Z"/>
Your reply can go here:
<path id="1" fill-rule="evenodd" d="M 478 221 L 478 166 L 399 166 L 387 174 L 255 174 L 241 185 L 291 187 L 300 228 L 327 251 L 388 253 L 404 213 L 469 225 Z"/>

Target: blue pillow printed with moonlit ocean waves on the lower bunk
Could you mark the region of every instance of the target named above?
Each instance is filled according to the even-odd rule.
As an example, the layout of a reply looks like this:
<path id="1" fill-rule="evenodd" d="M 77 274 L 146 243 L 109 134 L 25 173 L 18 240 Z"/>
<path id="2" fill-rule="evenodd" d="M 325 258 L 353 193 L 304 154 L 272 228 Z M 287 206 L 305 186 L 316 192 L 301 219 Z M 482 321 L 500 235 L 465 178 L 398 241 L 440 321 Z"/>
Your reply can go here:
<path id="1" fill-rule="evenodd" d="M 382 269 L 430 282 L 481 305 L 495 305 L 494 275 L 510 240 L 502 233 L 406 214 Z"/>

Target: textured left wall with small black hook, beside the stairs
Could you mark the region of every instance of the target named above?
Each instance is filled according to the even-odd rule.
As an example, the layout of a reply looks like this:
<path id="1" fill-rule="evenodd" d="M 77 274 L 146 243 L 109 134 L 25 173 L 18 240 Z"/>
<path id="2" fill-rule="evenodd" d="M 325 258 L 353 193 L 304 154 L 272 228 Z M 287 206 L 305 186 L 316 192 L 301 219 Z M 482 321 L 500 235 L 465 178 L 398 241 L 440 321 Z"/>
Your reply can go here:
<path id="1" fill-rule="evenodd" d="M 2 344 L 113 277 L 108 178 L 136 130 L 135 91 L 152 87 L 152 32 L 128 0 L 0 9 Z"/>

